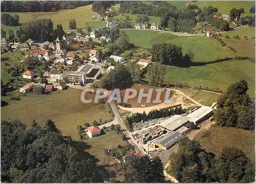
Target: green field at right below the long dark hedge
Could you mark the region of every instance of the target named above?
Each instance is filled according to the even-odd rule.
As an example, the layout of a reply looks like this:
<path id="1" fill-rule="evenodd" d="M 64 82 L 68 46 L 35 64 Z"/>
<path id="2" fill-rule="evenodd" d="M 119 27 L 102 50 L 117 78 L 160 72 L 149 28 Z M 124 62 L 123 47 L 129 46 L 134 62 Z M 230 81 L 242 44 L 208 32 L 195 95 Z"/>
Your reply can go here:
<path id="1" fill-rule="evenodd" d="M 230 60 L 188 68 L 166 66 L 165 82 L 200 87 L 202 77 L 203 88 L 216 90 L 219 87 L 225 91 L 230 84 L 244 79 L 248 82 L 248 94 L 254 97 L 254 71 L 254 63 L 249 60 Z"/>

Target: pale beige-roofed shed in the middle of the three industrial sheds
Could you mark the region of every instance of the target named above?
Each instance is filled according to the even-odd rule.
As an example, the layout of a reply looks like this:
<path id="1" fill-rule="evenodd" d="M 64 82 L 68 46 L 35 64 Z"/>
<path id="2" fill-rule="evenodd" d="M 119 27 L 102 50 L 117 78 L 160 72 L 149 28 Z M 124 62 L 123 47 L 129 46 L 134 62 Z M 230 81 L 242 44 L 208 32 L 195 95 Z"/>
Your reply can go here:
<path id="1" fill-rule="evenodd" d="M 159 126 L 164 128 L 166 131 L 175 131 L 188 122 L 188 119 L 176 114 L 168 118 L 167 120 L 164 120 L 162 123 L 159 124 Z"/>

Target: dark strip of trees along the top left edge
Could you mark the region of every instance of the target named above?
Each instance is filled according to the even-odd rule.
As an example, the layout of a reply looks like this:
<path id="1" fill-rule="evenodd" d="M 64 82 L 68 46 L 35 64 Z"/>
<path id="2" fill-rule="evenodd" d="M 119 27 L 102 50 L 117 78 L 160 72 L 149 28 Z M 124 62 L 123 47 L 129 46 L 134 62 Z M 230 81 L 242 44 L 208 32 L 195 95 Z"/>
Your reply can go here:
<path id="1" fill-rule="evenodd" d="M 92 1 L 5 1 L 1 4 L 1 10 L 3 12 L 54 12 L 92 3 Z"/>

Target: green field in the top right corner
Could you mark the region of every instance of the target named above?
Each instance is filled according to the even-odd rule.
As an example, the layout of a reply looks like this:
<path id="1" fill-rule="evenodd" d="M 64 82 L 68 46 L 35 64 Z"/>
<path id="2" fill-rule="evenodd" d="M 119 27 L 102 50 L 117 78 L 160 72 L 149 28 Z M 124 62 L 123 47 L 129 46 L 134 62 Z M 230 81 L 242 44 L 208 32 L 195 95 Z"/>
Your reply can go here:
<path id="1" fill-rule="evenodd" d="M 170 3 L 171 4 L 171 3 Z M 244 8 L 245 13 L 242 16 L 253 15 L 249 12 L 249 9 L 254 6 L 254 1 L 197 1 L 197 2 L 188 2 L 188 4 L 196 4 L 199 8 L 203 9 L 204 7 L 213 6 L 218 8 L 218 13 L 229 14 L 229 11 L 232 8 Z"/>

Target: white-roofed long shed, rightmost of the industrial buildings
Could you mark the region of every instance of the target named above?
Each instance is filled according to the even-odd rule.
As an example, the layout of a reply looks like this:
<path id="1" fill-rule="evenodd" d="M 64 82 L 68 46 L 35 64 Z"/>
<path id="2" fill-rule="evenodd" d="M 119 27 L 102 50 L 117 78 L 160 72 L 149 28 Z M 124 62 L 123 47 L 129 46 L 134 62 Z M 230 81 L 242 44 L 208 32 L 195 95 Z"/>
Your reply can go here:
<path id="1" fill-rule="evenodd" d="M 189 122 L 193 122 L 195 125 L 203 120 L 210 118 L 213 109 L 208 106 L 202 106 L 196 111 L 188 114 L 186 118 Z"/>

